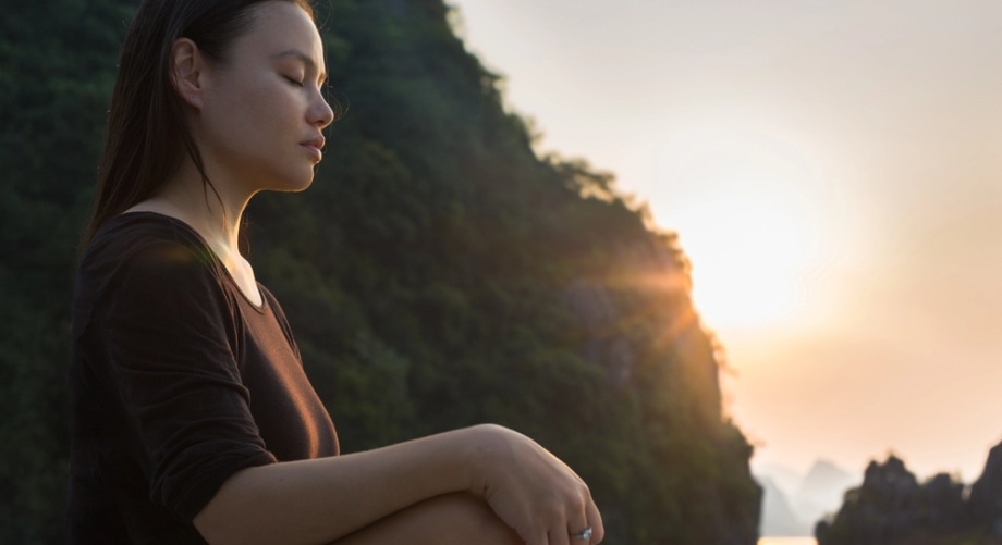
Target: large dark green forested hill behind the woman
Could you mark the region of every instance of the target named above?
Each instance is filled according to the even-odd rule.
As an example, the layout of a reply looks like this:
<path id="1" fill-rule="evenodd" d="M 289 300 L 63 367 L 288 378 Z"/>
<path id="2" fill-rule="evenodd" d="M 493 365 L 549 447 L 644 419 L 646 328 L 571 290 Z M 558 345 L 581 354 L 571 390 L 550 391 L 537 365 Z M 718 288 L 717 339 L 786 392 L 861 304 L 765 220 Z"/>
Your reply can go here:
<path id="1" fill-rule="evenodd" d="M 136 3 L 0 0 L 2 543 L 61 541 L 76 244 Z M 606 543 L 755 543 L 674 239 L 533 151 L 442 0 L 323 4 L 343 116 L 313 187 L 258 197 L 246 234 L 344 449 L 497 422 L 582 473 Z"/>

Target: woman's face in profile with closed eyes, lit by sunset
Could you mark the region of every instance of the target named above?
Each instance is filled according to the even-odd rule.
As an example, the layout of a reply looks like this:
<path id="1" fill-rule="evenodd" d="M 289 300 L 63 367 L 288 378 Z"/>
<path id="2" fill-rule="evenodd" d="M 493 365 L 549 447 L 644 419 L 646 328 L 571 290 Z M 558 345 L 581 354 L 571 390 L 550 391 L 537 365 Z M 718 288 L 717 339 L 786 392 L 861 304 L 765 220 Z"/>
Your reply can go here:
<path id="1" fill-rule="evenodd" d="M 213 182 L 222 174 L 250 194 L 305 189 L 320 162 L 320 131 L 333 120 L 320 91 L 320 35 L 306 12 L 292 2 L 259 4 L 228 62 L 209 64 L 204 77 L 192 126 Z"/>

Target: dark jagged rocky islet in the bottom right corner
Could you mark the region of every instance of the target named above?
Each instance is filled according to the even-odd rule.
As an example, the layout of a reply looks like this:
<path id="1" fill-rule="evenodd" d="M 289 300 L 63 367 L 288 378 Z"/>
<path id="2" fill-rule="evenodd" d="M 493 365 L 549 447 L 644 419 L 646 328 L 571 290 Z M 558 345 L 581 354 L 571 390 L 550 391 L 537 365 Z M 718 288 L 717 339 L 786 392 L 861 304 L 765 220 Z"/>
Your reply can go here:
<path id="1" fill-rule="evenodd" d="M 871 461 L 815 536 L 818 545 L 1002 544 L 1002 444 L 970 486 L 946 473 L 919 483 L 893 455 Z"/>

